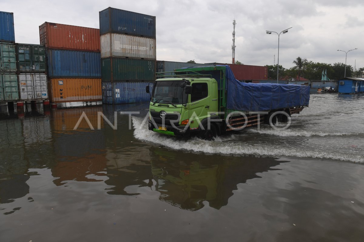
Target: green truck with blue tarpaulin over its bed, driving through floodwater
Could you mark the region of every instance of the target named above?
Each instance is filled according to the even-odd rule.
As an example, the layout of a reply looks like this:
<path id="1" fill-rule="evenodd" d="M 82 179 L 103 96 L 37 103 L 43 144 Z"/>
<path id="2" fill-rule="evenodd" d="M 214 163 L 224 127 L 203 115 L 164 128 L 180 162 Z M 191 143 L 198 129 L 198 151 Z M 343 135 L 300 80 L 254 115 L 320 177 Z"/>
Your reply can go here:
<path id="1" fill-rule="evenodd" d="M 211 140 L 226 131 L 263 122 L 286 122 L 308 106 L 309 86 L 237 81 L 227 65 L 187 67 L 157 73 L 149 130 Z"/>

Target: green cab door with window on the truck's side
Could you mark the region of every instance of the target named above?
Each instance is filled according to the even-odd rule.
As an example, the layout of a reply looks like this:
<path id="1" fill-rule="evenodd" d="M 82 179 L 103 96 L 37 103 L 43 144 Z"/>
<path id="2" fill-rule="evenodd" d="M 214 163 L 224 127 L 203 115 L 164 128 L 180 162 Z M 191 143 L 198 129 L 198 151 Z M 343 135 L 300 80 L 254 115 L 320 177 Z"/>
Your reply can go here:
<path id="1" fill-rule="evenodd" d="M 210 110 L 210 94 L 209 94 L 209 85 L 207 81 L 195 81 L 191 84 L 192 93 L 190 95 L 190 117 L 197 116 L 201 121 L 204 118 L 207 118 L 207 114 Z M 195 113 L 195 114 L 194 114 Z M 197 119 L 197 118 L 196 118 Z M 191 119 L 191 121 L 194 119 Z M 194 122 L 195 125 L 198 126 L 198 122 Z"/>

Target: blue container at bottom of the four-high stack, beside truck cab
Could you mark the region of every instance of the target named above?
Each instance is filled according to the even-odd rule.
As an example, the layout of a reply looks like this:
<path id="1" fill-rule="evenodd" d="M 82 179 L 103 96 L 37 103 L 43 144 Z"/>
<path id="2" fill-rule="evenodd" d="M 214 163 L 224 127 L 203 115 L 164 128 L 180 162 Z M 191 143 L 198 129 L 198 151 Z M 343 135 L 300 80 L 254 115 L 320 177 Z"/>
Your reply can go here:
<path id="1" fill-rule="evenodd" d="M 149 90 L 153 90 L 152 82 L 113 82 L 102 83 L 102 102 L 107 104 L 149 102 L 150 94 L 145 92 L 145 87 L 149 85 Z M 110 87 L 112 85 L 112 90 Z"/>

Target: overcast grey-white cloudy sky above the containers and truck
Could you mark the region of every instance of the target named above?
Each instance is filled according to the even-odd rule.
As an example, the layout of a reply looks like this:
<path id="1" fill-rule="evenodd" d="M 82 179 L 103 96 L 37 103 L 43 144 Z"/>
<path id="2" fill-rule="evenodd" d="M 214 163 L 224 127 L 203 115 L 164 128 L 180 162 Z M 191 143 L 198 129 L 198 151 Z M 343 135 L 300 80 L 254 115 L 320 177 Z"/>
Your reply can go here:
<path id="1" fill-rule="evenodd" d="M 157 60 L 232 62 L 233 19 L 235 60 L 245 65 L 293 67 L 297 57 L 321 63 L 364 67 L 362 0 L 13 0 L 0 11 L 13 12 L 15 41 L 39 44 L 39 25 L 55 22 L 99 28 L 99 11 L 107 8 L 156 16 Z M 275 60 L 274 60 L 275 58 Z"/>

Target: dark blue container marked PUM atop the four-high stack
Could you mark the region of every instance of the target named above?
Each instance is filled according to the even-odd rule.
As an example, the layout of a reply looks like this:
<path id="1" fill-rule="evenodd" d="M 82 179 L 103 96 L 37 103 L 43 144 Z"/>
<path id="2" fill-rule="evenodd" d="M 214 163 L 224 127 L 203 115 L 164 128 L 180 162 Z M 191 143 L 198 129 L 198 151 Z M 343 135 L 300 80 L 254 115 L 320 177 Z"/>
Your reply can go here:
<path id="1" fill-rule="evenodd" d="M 155 16 L 109 7 L 99 17 L 101 35 L 114 32 L 155 38 Z"/>

